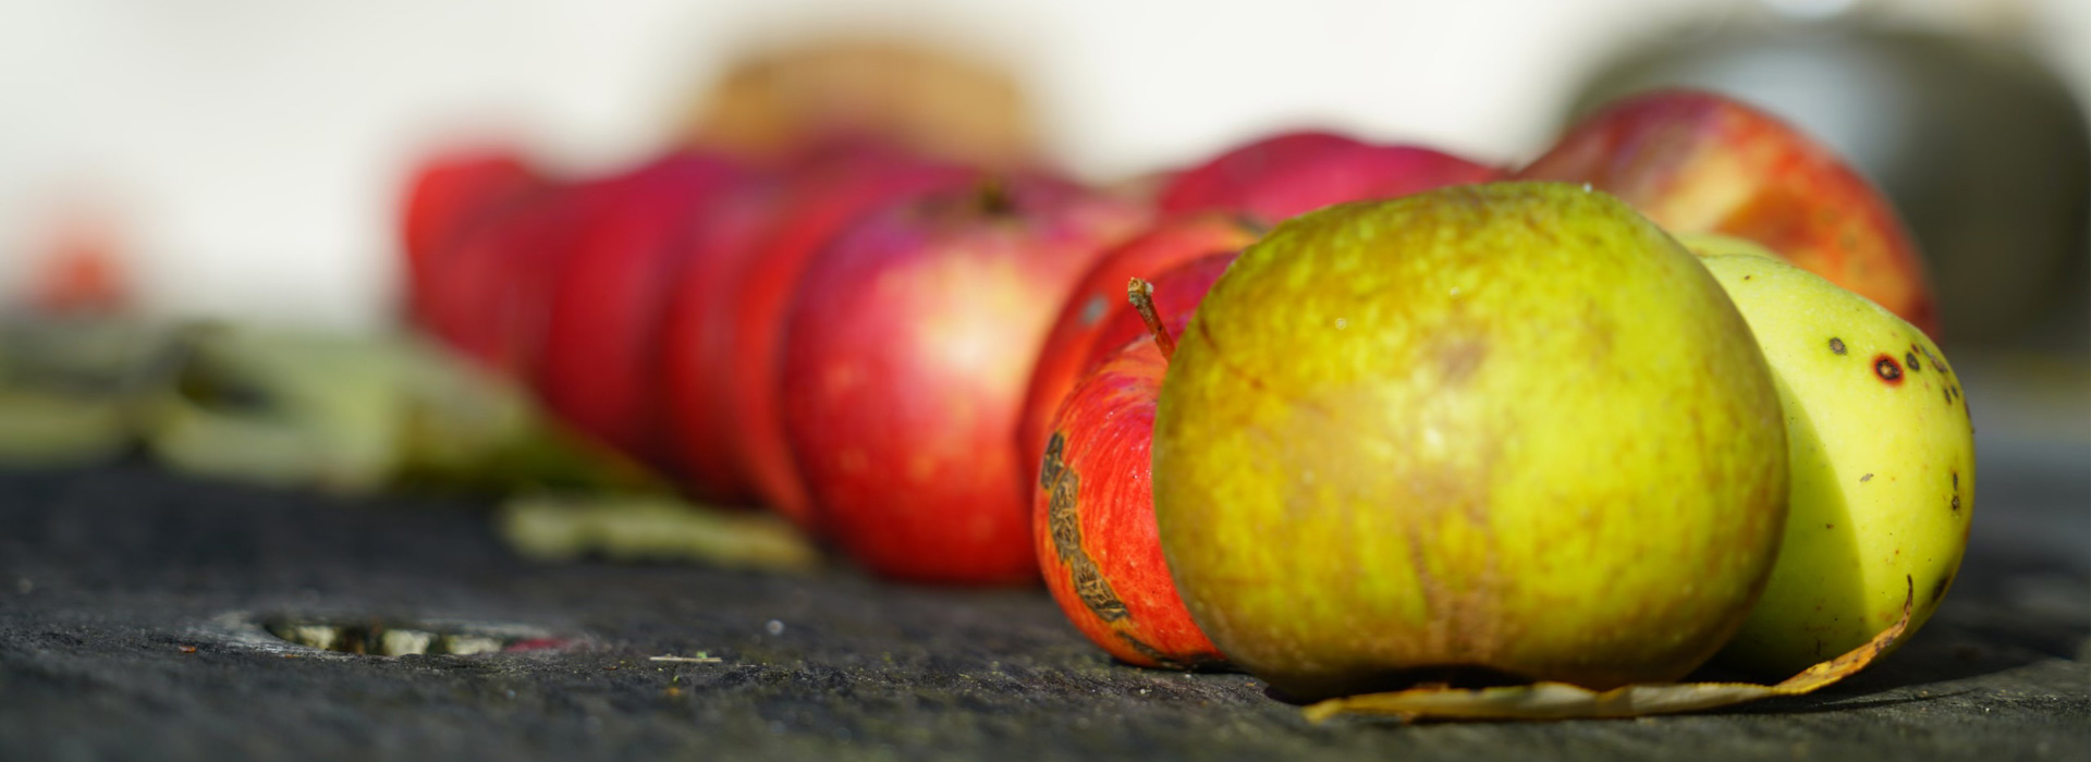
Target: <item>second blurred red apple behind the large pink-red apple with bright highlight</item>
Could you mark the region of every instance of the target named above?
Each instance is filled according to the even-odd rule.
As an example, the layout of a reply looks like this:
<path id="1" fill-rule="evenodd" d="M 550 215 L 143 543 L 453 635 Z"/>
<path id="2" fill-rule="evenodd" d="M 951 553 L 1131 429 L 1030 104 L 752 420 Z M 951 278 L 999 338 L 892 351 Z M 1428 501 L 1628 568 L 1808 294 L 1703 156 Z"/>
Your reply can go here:
<path id="1" fill-rule="evenodd" d="M 761 253 L 757 244 L 784 209 L 784 196 L 782 177 L 761 177 L 713 198 L 694 223 L 688 261 L 661 319 L 654 397 L 667 413 L 684 486 L 711 501 L 755 501 L 755 482 L 736 457 L 736 403 L 728 392 L 732 309 L 738 276 Z"/>

